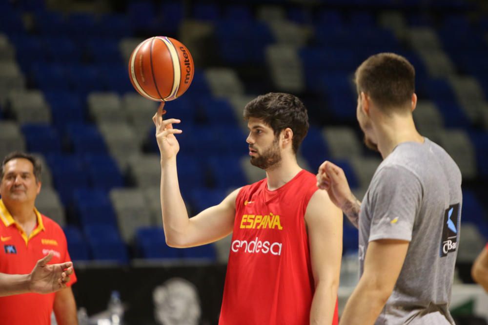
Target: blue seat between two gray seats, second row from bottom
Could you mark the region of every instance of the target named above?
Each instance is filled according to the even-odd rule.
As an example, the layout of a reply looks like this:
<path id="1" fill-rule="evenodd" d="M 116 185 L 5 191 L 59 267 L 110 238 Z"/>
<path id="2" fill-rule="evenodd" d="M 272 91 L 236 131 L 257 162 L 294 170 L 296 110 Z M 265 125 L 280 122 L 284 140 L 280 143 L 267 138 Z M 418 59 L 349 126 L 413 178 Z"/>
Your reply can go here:
<path id="1" fill-rule="evenodd" d="M 106 191 L 79 188 L 73 193 L 73 206 L 83 227 L 89 225 L 117 227 L 115 212 Z"/>

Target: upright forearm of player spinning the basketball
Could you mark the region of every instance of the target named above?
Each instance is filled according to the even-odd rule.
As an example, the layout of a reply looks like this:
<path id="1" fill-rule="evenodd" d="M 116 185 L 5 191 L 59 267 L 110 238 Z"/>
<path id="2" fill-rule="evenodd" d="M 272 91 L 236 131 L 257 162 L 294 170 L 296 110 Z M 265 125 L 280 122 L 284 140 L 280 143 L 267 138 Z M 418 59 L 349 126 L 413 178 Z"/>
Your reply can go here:
<path id="1" fill-rule="evenodd" d="M 176 161 L 161 162 L 161 210 L 166 242 L 179 246 L 189 224 L 188 212 L 180 192 Z"/>

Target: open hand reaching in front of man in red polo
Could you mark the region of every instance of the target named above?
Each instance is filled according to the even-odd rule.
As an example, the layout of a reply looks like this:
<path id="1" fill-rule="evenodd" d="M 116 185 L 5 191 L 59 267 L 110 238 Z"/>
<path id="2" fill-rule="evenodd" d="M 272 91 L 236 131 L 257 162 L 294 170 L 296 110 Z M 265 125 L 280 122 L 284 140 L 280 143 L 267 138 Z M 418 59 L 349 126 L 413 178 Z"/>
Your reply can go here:
<path id="1" fill-rule="evenodd" d="M 69 276 L 73 274 L 73 263 L 48 265 L 47 263 L 52 258 L 53 252 L 49 252 L 44 258 L 37 261 L 29 274 L 29 291 L 51 293 L 66 287 L 70 280 Z"/>

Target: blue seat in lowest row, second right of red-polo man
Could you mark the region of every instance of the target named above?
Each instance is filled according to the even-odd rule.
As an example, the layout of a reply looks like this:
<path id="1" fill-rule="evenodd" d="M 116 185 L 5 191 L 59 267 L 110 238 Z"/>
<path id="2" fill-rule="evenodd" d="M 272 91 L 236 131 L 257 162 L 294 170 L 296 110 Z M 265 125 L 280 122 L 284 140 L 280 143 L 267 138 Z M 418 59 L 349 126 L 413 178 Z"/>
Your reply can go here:
<path id="1" fill-rule="evenodd" d="M 84 232 L 94 260 L 127 264 L 127 248 L 114 226 L 91 225 L 84 227 Z"/>

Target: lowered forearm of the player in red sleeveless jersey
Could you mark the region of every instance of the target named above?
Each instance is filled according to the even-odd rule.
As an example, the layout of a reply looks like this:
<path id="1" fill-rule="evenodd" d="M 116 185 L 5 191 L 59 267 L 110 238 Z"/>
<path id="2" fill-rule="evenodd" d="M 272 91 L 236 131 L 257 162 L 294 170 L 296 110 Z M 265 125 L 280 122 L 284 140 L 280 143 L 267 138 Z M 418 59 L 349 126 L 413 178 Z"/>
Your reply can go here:
<path id="1" fill-rule="evenodd" d="M 330 325 L 337 301 L 337 284 L 319 284 L 310 308 L 310 325 Z"/>

